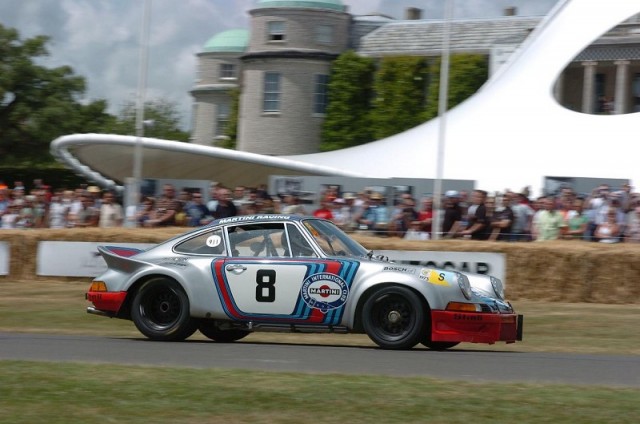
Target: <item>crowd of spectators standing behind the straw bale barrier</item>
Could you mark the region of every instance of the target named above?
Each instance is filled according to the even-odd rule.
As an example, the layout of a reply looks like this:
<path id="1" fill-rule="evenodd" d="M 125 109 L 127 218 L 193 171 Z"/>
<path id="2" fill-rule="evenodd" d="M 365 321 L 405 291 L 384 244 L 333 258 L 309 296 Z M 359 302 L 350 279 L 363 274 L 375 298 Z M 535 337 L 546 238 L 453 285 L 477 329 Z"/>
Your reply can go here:
<path id="1" fill-rule="evenodd" d="M 208 193 L 162 187 L 160 196 L 142 196 L 125 210 L 116 193 L 97 186 L 52 189 L 35 180 L 9 187 L 0 181 L 3 229 L 78 227 L 197 227 L 236 215 L 297 214 L 329 219 L 347 232 L 381 237 L 428 240 L 439 238 L 495 241 L 572 239 L 601 243 L 640 242 L 640 193 L 628 184 L 612 190 L 605 184 L 587 195 L 564 187 L 532 198 L 527 189 L 487 193 L 448 190 L 434 210 L 431 196 L 395 198 L 364 188 L 358 193 L 327 187 L 314 203 L 296 193 L 273 196 L 266 186 L 234 188 L 212 183 Z M 206 200 L 206 201 L 205 201 Z"/>

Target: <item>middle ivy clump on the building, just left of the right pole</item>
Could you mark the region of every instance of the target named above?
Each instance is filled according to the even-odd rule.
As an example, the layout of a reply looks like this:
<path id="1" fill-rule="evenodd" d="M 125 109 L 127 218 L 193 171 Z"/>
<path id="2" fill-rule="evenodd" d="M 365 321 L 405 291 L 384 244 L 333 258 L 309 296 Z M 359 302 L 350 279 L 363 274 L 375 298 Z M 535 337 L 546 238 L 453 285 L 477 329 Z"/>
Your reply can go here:
<path id="1" fill-rule="evenodd" d="M 371 122 L 376 139 L 388 137 L 422 122 L 428 66 L 424 58 L 385 57 L 375 77 L 376 98 Z"/>

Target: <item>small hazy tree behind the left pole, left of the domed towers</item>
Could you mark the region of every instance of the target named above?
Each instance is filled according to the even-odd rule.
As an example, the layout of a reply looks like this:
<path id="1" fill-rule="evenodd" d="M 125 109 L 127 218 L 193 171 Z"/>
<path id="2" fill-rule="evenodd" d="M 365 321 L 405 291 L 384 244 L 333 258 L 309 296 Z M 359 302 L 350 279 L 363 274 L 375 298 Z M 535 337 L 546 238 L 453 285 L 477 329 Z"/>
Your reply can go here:
<path id="1" fill-rule="evenodd" d="M 155 99 L 145 102 L 144 120 L 152 122 L 145 125 L 144 136 L 166 140 L 188 141 L 189 133 L 180 129 L 181 115 L 175 102 Z M 136 134 L 136 104 L 128 101 L 122 105 L 117 120 L 109 128 L 114 134 Z"/>

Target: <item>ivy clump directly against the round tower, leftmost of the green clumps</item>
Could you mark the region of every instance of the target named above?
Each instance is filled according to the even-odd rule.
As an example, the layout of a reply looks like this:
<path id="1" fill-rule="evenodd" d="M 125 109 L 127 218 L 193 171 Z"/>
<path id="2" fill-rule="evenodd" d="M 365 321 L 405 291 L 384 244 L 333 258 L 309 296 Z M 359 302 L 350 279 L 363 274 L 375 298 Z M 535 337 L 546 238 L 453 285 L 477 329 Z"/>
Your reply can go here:
<path id="1" fill-rule="evenodd" d="M 373 73 L 373 61 L 353 51 L 343 53 L 334 62 L 320 150 L 342 149 L 373 140 L 369 121 Z"/>

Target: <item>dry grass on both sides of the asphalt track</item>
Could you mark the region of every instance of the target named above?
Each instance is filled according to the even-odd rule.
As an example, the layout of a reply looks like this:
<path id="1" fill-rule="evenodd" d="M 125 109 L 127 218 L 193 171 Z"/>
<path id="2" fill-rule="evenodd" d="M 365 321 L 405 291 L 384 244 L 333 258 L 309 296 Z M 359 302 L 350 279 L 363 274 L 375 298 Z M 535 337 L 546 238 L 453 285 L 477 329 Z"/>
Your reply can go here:
<path id="1" fill-rule="evenodd" d="M 0 281 L 0 331 L 140 337 L 128 321 L 87 315 L 87 287 L 88 282 Z M 525 314 L 525 341 L 477 348 L 640 354 L 640 338 L 632 337 L 638 305 L 515 306 Z M 247 340 L 371 345 L 364 335 L 257 333 Z M 0 411 L 3 423 L 52 424 L 635 423 L 640 390 L 0 361 Z"/>

